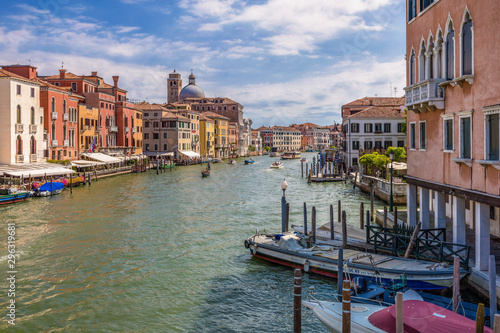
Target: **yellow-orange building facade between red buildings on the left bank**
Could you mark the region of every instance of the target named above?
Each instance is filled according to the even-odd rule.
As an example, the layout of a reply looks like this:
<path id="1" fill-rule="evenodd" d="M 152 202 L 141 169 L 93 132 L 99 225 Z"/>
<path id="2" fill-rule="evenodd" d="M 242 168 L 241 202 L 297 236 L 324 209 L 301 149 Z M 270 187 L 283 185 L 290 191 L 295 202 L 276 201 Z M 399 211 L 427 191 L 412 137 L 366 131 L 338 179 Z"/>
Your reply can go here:
<path id="1" fill-rule="evenodd" d="M 80 137 L 80 147 L 78 148 L 79 153 L 88 153 L 89 151 L 99 150 L 97 130 L 99 108 L 79 104 L 78 117 L 80 118 L 78 126 L 78 136 Z"/>

